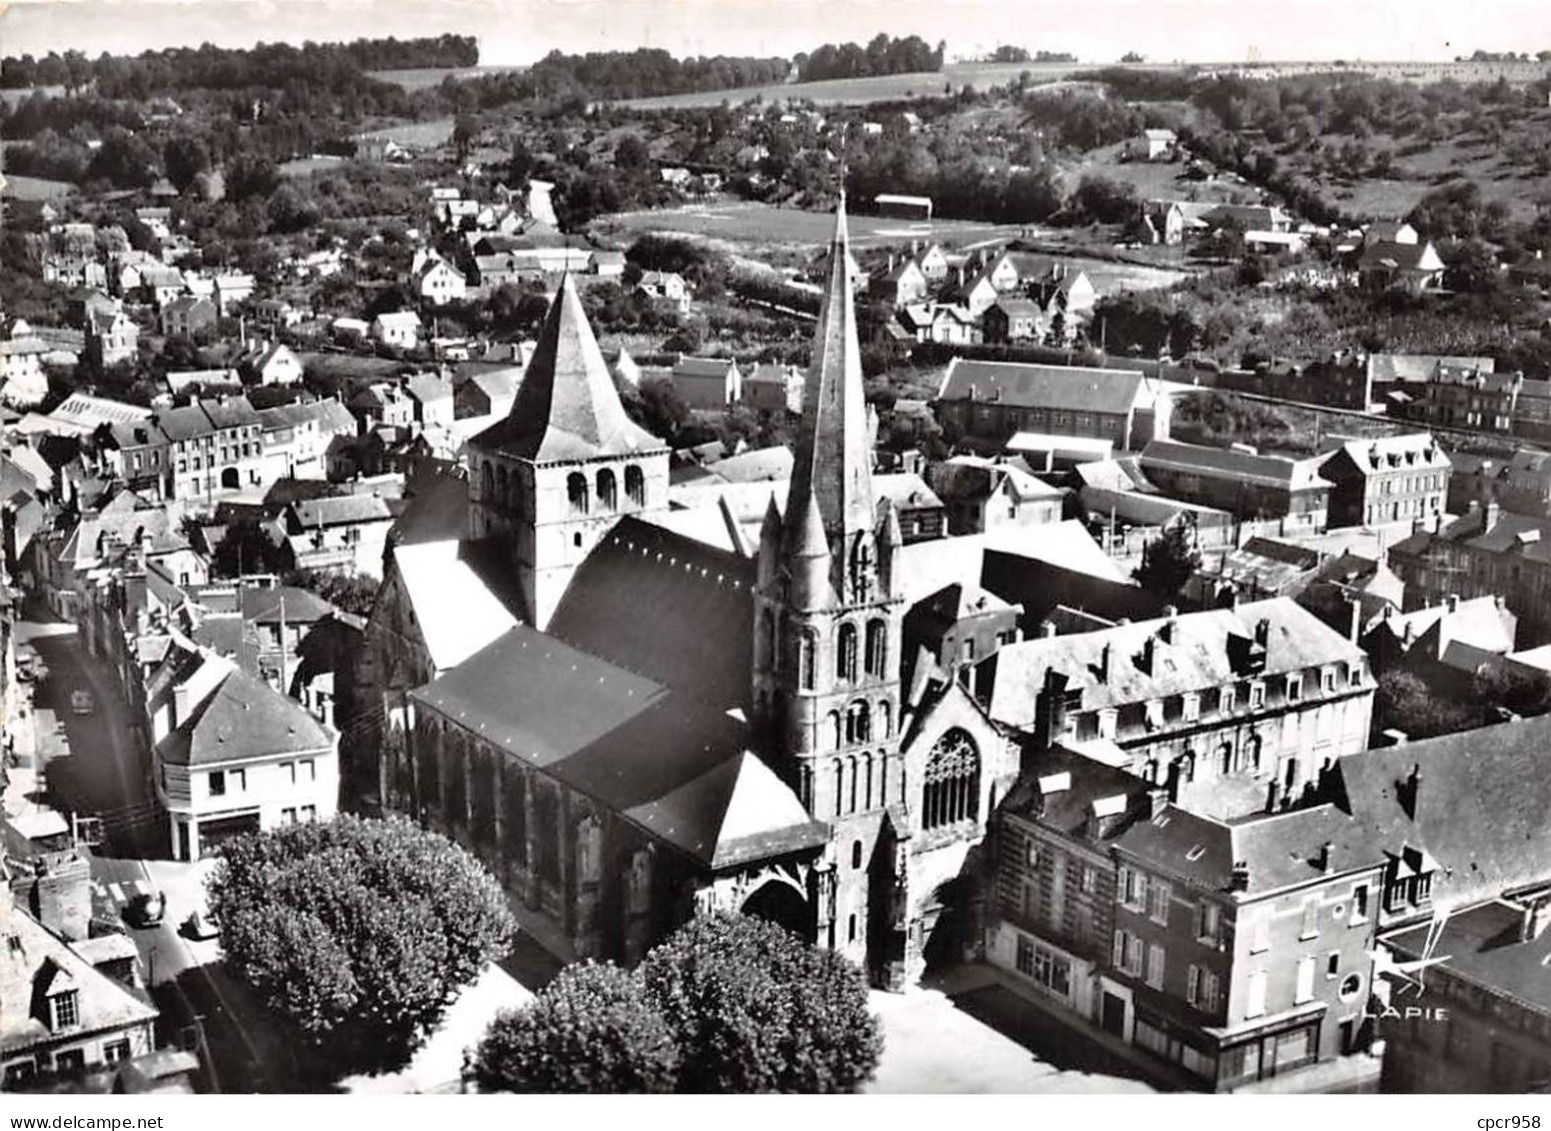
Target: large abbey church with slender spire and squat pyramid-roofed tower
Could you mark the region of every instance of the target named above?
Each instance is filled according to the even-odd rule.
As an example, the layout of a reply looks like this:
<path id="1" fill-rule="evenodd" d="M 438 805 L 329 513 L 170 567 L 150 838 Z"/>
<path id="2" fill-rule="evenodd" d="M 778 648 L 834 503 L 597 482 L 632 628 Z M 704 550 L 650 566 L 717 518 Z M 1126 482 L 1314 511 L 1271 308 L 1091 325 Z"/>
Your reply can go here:
<path id="1" fill-rule="evenodd" d="M 757 545 L 726 506 L 727 537 L 679 521 L 668 447 L 625 414 L 568 278 L 510 416 L 389 551 L 382 802 L 473 850 L 563 957 L 634 962 L 720 908 L 879 985 L 972 943 L 955 880 L 1017 748 L 906 644 L 959 540 L 906 545 L 875 484 L 853 270 L 842 202 Z"/>

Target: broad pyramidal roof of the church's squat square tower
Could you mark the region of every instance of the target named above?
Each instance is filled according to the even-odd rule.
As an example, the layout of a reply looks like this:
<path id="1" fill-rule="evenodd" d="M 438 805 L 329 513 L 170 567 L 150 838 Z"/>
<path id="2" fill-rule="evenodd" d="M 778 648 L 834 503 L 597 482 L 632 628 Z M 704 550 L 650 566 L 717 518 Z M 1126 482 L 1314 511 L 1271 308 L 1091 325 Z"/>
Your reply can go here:
<path id="1" fill-rule="evenodd" d="M 544 315 L 510 416 L 481 433 L 478 442 L 537 462 L 667 447 L 625 416 L 569 273 Z"/>

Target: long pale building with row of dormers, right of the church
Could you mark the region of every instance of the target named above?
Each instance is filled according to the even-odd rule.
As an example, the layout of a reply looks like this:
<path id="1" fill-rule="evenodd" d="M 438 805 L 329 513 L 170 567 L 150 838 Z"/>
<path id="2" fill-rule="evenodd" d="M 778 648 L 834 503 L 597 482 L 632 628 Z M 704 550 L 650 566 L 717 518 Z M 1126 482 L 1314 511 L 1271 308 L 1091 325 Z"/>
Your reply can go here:
<path id="1" fill-rule="evenodd" d="M 1362 649 L 1272 597 L 1025 639 L 977 664 L 971 687 L 1036 748 L 1095 743 L 1179 805 L 1242 816 L 1363 749 L 1376 683 Z"/>

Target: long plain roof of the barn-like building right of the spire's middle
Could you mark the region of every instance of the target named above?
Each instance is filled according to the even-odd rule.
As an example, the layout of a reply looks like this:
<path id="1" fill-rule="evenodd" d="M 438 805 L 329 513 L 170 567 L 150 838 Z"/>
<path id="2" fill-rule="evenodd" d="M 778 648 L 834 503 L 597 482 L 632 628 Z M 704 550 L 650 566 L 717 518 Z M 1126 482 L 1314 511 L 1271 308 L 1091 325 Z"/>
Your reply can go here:
<path id="1" fill-rule="evenodd" d="M 1002 403 L 1017 408 L 1052 408 L 1124 416 L 1155 400 L 1148 379 L 1132 369 L 1087 369 L 1064 365 L 976 361 L 955 357 L 948 363 L 938 400 Z"/>

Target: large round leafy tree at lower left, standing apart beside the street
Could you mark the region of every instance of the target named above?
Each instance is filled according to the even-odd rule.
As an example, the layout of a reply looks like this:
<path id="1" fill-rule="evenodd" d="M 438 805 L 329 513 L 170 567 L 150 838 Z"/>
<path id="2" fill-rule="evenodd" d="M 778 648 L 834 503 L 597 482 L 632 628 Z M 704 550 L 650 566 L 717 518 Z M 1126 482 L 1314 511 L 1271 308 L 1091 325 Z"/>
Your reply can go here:
<path id="1" fill-rule="evenodd" d="M 402 818 L 228 841 L 209 911 L 228 970 L 338 1074 L 408 1063 L 513 929 L 495 880 Z"/>

